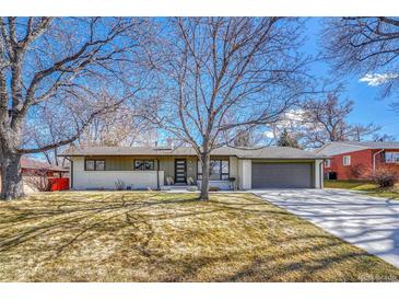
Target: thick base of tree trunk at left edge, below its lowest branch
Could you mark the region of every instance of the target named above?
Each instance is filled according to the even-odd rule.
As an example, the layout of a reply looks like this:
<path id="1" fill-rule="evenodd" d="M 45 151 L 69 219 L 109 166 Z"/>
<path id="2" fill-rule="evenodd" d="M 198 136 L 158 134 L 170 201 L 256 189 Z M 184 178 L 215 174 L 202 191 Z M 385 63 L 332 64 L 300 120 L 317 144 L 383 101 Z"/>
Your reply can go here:
<path id="1" fill-rule="evenodd" d="M 1 158 L 1 199 L 12 200 L 24 195 L 21 154 L 3 153 Z"/>

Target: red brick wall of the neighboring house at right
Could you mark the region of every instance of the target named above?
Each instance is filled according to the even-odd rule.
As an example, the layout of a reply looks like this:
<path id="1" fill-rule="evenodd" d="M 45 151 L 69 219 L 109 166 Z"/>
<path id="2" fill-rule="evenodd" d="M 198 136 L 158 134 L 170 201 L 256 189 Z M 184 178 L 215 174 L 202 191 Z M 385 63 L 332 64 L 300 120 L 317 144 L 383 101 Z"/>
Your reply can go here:
<path id="1" fill-rule="evenodd" d="M 336 172 L 337 180 L 366 180 L 366 172 L 373 169 L 373 155 L 382 149 L 366 149 L 361 151 L 347 152 L 331 158 L 331 166 L 325 168 L 325 174 Z M 386 149 L 384 152 L 397 152 L 395 149 Z M 376 168 L 391 166 L 399 172 L 399 164 L 385 163 L 384 152 L 376 154 Z M 343 165 L 343 157 L 351 157 L 351 165 Z"/>

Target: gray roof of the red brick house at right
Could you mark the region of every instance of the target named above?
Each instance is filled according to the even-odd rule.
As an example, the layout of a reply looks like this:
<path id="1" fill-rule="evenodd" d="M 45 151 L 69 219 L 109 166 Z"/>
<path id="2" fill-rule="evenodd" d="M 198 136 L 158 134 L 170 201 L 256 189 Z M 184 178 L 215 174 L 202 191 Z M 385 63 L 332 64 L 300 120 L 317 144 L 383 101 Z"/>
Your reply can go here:
<path id="1" fill-rule="evenodd" d="M 316 149 L 315 153 L 337 155 L 365 149 L 399 149 L 398 141 L 332 141 Z"/>

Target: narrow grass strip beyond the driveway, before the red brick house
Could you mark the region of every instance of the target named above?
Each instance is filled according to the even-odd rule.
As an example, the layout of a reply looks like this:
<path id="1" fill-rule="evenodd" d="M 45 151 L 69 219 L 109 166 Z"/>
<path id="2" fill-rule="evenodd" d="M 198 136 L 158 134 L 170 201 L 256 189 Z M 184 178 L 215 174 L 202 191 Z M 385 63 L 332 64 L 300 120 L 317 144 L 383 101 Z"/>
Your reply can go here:
<path id="1" fill-rule="evenodd" d="M 325 187 L 361 191 L 371 196 L 399 199 L 399 186 L 378 188 L 376 184 L 367 181 L 325 181 Z"/>

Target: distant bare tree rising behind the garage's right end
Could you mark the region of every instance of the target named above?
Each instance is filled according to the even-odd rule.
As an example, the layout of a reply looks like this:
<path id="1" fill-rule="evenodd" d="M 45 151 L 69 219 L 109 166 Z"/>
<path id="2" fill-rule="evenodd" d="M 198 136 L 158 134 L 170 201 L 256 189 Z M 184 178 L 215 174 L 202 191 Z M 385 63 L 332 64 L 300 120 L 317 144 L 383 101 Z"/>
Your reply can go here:
<path id="1" fill-rule="evenodd" d="M 297 128 L 301 142 L 306 147 L 319 147 L 329 141 L 361 140 L 379 129 L 374 124 L 350 124 L 348 116 L 352 111 L 352 101 L 340 102 L 335 94 L 306 101 Z"/>

